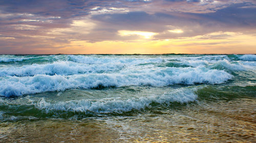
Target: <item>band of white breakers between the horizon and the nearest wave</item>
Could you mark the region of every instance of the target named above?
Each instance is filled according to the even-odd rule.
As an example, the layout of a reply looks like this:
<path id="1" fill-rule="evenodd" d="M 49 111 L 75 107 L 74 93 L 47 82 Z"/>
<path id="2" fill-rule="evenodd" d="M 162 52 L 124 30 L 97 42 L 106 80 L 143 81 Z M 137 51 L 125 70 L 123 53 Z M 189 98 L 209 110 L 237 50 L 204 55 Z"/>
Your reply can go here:
<path id="1" fill-rule="evenodd" d="M 5 63 L 14 61 L 20 62 Z M 130 85 L 220 84 L 239 71 L 253 71 L 254 61 L 254 54 L 0 55 L 0 96 Z"/>

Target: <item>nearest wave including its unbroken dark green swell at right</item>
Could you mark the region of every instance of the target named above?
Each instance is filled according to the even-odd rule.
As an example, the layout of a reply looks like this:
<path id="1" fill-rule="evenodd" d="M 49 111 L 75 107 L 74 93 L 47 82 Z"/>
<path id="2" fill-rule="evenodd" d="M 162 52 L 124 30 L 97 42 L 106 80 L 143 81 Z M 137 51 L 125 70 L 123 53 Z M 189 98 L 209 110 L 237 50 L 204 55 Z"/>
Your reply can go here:
<path id="1" fill-rule="evenodd" d="M 154 111 L 155 109 L 166 109 L 166 107 L 168 109 L 176 108 L 190 102 L 204 105 L 208 101 L 251 98 L 255 97 L 255 88 L 255 85 L 246 87 L 196 85 L 179 89 L 168 88 L 167 91 L 155 92 L 156 94 L 134 93 L 134 95 L 119 96 L 122 93 L 115 92 L 111 96 L 101 96 L 107 98 L 77 99 L 77 95 L 68 95 L 67 98 L 42 97 L 41 95 L 15 98 L 14 100 L 0 98 L 0 121 L 42 118 L 83 119 L 102 115 L 113 116 L 120 113 L 131 115 L 138 110 Z M 54 94 L 56 95 L 56 93 Z"/>

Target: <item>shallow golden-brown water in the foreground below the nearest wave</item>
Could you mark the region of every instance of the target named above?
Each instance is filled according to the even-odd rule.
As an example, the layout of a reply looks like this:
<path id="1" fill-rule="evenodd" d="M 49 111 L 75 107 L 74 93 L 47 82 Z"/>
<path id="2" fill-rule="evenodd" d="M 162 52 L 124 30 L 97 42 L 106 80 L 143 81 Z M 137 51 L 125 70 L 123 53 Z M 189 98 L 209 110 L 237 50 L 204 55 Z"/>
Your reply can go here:
<path id="1" fill-rule="evenodd" d="M 255 98 L 135 116 L 3 122 L 0 142 L 255 142 Z"/>

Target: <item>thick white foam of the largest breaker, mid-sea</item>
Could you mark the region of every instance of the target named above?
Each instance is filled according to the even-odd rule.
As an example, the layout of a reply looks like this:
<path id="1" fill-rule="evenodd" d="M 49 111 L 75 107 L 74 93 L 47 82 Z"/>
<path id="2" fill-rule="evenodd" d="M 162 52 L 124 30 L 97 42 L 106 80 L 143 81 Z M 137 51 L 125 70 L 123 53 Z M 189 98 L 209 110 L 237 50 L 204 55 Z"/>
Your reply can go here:
<path id="1" fill-rule="evenodd" d="M 128 85 L 152 85 L 162 87 L 171 84 L 218 84 L 232 75 L 220 70 L 198 68 L 165 68 L 156 70 L 123 71 L 120 73 L 95 73 L 81 75 L 35 75 L 32 77 L 0 77 L 0 95 L 20 96 L 67 89 L 91 89 L 98 87 L 123 87 Z"/>

